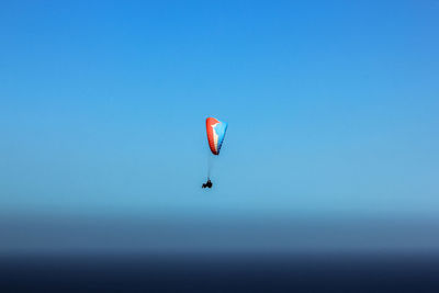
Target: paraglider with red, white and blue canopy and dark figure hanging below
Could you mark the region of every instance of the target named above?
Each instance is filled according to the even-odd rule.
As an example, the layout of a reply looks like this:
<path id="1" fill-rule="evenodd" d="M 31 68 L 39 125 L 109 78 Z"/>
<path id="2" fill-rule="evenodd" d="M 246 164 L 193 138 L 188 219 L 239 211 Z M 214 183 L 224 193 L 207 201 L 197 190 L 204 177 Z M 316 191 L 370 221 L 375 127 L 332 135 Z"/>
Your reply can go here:
<path id="1" fill-rule="evenodd" d="M 211 148 L 211 153 L 214 156 L 219 155 L 221 147 L 223 146 L 224 136 L 226 135 L 227 123 L 216 120 L 214 117 L 206 119 L 206 134 L 207 143 Z M 212 188 L 212 181 L 210 179 L 211 166 L 209 167 L 207 182 L 203 183 L 202 188 Z"/>

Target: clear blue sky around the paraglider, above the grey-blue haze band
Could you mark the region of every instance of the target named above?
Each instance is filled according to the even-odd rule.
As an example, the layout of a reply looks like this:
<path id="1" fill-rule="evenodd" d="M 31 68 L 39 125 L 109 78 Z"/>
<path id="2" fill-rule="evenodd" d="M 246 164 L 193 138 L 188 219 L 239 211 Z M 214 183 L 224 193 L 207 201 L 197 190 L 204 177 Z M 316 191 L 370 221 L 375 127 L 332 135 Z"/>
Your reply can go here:
<path id="1" fill-rule="evenodd" d="M 0 214 L 435 217 L 438 15 L 434 0 L 3 1 Z M 210 115 L 229 127 L 206 192 Z"/>

